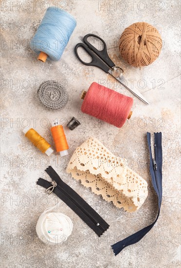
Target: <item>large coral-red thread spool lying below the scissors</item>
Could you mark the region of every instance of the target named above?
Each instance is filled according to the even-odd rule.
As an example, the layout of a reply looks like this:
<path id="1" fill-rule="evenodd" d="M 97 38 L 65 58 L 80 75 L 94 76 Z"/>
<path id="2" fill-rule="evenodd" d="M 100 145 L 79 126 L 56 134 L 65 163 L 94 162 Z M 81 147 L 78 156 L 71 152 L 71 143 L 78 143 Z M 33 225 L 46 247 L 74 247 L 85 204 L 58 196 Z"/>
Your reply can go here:
<path id="1" fill-rule="evenodd" d="M 83 92 L 81 111 L 121 128 L 132 115 L 133 98 L 93 82 Z"/>

